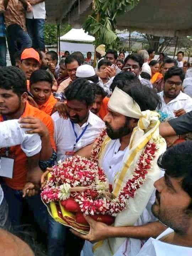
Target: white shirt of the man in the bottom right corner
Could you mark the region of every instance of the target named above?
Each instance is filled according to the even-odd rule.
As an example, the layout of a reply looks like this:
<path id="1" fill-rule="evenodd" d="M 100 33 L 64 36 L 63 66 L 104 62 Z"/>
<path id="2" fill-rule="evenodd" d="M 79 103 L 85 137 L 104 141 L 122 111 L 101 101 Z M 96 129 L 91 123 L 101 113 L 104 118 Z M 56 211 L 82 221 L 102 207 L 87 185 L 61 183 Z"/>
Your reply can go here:
<path id="1" fill-rule="evenodd" d="M 137 256 L 190 256 L 192 255 L 191 247 L 184 247 L 178 245 L 167 244 L 165 242 L 159 241 L 166 235 L 174 232 L 171 228 L 166 229 L 161 235 L 156 239 L 150 238 L 145 245 L 140 250 Z"/>

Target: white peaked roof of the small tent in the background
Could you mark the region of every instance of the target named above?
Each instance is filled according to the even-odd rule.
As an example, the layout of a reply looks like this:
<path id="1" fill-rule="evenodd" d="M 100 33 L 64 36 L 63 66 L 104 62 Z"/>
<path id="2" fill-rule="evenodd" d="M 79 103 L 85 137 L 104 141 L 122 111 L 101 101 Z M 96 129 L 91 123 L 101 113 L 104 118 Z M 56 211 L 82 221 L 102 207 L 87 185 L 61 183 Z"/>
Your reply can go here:
<path id="1" fill-rule="evenodd" d="M 61 36 L 60 40 L 65 42 L 92 43 L 93 41 L 95 41 L 95 37 L 90 36 L 88 33 L 85 33 L 82 28 L 72 28 L 68 33 L 64 34 L 64 36 Z"/>

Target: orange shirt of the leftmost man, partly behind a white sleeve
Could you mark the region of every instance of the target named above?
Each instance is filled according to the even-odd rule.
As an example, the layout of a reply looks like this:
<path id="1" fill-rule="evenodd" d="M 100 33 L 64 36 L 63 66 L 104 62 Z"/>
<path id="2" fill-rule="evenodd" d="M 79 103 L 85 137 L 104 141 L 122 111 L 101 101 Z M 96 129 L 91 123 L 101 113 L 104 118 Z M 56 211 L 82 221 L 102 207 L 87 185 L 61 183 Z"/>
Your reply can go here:
<path id="1" fill-rule="evenodd" d="M 52 118 L 46 114 L 45 112 L 38 110 L 31 106 L 28 102 L 26 102 L 25 111 L 23 112 L 21 117 L 33 116 L 39 118 L 48 128 L 49 137 L 51 141 L 52 148 L 56 151 L 55 142 L 53 139 L 54 126 Z M 0 115 L 0 122 L 3 121 L 2 115 Z M 27 156 L 21 150 L 20 145 L 12 146 L 9 148 L 10 155 L 15 156 L 14 160 L 14 170 L 12 178 L 4 178 L 5 183 L 15 189 L 22 190 L 26 183 L 26 175 L 27 175 Z"/>

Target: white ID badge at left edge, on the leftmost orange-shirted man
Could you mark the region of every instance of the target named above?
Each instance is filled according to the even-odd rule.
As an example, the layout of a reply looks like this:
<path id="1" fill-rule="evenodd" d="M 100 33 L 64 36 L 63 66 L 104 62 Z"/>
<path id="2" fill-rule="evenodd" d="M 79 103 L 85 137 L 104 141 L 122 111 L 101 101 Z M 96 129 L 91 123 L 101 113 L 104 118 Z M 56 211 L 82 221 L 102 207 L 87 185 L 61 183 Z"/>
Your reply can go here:
<path id="1" fill-rule="evenodd" d="M 6 178 L 13 177 L 14 158 L 1 156 L 0 158 L 0 176 Z"/>

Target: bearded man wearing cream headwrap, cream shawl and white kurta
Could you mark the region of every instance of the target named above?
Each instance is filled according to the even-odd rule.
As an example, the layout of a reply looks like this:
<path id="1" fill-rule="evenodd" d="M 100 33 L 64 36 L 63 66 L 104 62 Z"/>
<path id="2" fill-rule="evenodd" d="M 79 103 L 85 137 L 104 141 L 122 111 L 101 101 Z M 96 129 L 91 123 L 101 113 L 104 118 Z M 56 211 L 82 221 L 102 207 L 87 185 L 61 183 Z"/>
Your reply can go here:
<path id="1" fill-rule="evenodd" d="M 72 231 L 89 241 L 100 240 L 94 245 L 85 241 L 81 252 L 83 256 L 134 256 L 145 242 L 142 239 L 157 236 L 165 229 L 151 213 L 151 206 L 155 201 L 153 184 L 162 176 L 156 162 L 166 150 L 165 140 L 159 135 L 159 115 L 153 111 L 159 98 L 149 87 L 142 86 L 132 73 L 129 78 L 127 76 L 127 80 L 118 80 L 112 85 L 115 89 L 108 102 L 108 114 L 104 118 L 108 136 L 99 150 L 98 163 L 104 169 L 115 197 L 128 181 L 130 190 L 133 188 L 134 192 L 127 200 L 126 209 L 117 214 L 114 227 L 92 222 L 90 217 L 85 216 L 91 226 L 90 233 L 81 235 Z M 148 148 L 151 144 L 155 145 L 155 150 Z M 153 157 L 149 154 L 149 158 L 146 158 L 149 152 Z M 147 169 L 146 176 L 142 177 L 141 162 L 145 166 L 143 168 Z M 137 182 L 140 183 L 138 189 Z M 144 230 L 137 229 L 149 222 L 156 223 L 155 228 L 149 226 Z M 115 233 L 113 230 L 116 227 L 130 229 L 132 233 Z"/>

